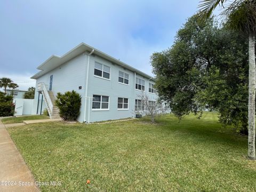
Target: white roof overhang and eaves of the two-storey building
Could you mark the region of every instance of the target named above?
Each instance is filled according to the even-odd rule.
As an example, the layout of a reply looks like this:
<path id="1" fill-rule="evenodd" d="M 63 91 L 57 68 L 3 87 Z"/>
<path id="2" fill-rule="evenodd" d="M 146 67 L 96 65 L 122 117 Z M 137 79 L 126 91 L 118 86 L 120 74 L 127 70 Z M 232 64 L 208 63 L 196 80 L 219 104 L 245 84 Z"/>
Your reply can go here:
<path id="1" fill-rule="evenodd" d="M 151 77 L 150 75 L 147 75 L 147 74 L 143 73 L 142 71 L 135 69 L 134 67 L 129 66 L 126 63 L 119 61 L 119 60 L 111 57 L 110 55 L 103 53 L 100 50 L 97 50 L 94 47 L 87 45 L 85 43 L 81 43 L 81 44 L 77 45 L 76 47 L 74 47 L 73 49 L 68 51 L 67 53 L 63 54 L 61 57 L 58 55 L 52 55 L 49 59 L 47 59 L 46 61 L 44 61 L 41 65 L 39 65 L 37 67 L 37 69 L 39 69 L 41 71 L 39 71 L 37 74 L 33 75 L 31 78 L 37 79 L 37 78 L 43 76 L 44 74 L 48 73 L 49 71 L 59 67 L 63 63 L 69 61 L 70 59 L 73 59 L 77 55 L 82 54 L 86 51 L 91 52 L 93 49 L 94 49 L 93 54 L 98 55 L 104 59 L 107 59 L 113 63 L 116 63 L 119 66 L 122 66 L 126 69 L 136 72 L 137 74 L 139 74 L 143 77 L 152 79 L 154 81 L 154 77 Z"/>

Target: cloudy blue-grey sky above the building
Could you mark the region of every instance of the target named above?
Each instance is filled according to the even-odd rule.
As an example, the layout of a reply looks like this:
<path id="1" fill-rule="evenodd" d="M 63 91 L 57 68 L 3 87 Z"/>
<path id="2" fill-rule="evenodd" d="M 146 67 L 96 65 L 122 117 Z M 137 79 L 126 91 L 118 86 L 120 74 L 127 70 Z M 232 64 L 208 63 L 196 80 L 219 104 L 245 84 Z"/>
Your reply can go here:
<path id="1" fill-rule="evenodd" d="M 35 86 L 38 65 L 81 42 L 153 75 L 150 55 L 172 46 L 198 2 L 1 0 L 0 78 Z"/>

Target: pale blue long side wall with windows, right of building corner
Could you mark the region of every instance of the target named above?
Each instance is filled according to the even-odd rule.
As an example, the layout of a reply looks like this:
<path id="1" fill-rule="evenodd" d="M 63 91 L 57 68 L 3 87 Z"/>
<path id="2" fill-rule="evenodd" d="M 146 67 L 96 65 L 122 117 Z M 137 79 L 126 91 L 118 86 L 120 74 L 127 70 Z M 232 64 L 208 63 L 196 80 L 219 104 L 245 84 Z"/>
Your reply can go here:
<path id="1" fill-rule="evenodd" d="M 94 62 L 110 67 L 110 81 L 94 76 Z M 118 82 L 119 71 L 129 74 L 129 85 Z M 148 94 L 149 79 L 140 75 L 136 76 L 145 80 L 145 93 Z M 134 117 L 135 99 L 139 98 L 141 91 L 135 90 L 135 73 L 133 71 L 94 55 L 90 58 L 88 90 L 89 97 L 93 97 L 93 94 L 109 96 L 109 110 L 93 110 L 92 99 L 90 99 L 90 122 Z M 156 94 L 150 93 L 148 95 L 152 100 L 156 100 Z M 129 110 L 118 110 L 118 97 L 129 99 Z M 88 113 L 86 113 L 86 119 L 88 119 Z"/>

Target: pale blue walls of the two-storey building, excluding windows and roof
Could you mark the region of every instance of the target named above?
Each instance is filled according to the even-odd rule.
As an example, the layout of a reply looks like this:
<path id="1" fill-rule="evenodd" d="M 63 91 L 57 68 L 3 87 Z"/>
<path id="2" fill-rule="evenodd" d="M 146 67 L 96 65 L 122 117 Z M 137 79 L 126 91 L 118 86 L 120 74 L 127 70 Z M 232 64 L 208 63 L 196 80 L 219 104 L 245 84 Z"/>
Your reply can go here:
<path id="1" fill-rule="evenodd" d="M 88 97 L 93 97 L 94 94 L 109 96 L 109 110 L 93 110 L 92 98 L 90 99 L 90 108 L 88 105 L 89 99 L 86 99 L 87 107 L 85 109 L 85 85 L 86 85 L 86 72 L 87 72 L 87 58 L 88 53 L 78 55 L 76 58 L 64 63 L 58 68 L 50 71 L 49 73 L 39 77 L 37 83 L 44 82 L 46 85 L 50 83 L 50 76 L 53 75 L 52 91 L 54 94 L 57 92 L 66 92 L 75 90 L 82 96 L 81 115 L 78 117 L 79 122 L 88 122 L 90 110 L 90 122 L 106 121 L 109 119 L 120 119 L 127 117 L 134 117 L 135 99 L 139 98 L 141 91 L 135 90 L 135 76 L 145 80 L 145 93 L 149 95 L 151 100 L 156 100 L 156 94 L 148 93 L 148 82 L 151 80 L 135 74 L 133 71 L 116 65 L 106 59 L 100 58 L 92 54 L 89 61 L 89 80 L 88 80 Z M 94 76 L 94 63 L 99 62 L 103 65 L 110 67 L 110 79 L 103 79 Z M 129 74 L 129 85 L 121 84 L 118 82 L 119 71 Z M 82 86 L 79 90 L 78 87 Z M 36 87 L 35 100 L 37 100 L 38 92 Z M 128 98 L 129 109 L 118 110 L 117 99 Z M 34 102 L 34 109 L 36 110 L 36 103 Z M 85 119 L 84 119 L 85 115 Z"/>

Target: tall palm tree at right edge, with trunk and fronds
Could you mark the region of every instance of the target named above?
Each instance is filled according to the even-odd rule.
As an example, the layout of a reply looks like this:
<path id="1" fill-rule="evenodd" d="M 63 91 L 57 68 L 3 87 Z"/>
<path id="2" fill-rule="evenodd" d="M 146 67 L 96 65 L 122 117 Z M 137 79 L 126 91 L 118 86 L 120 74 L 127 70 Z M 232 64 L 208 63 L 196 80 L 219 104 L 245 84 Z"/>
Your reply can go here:
<path id="1" fill-rule="evenodd" d="M 217 6 L 222 7 L 228 27 L 242 31 L 249 37 L 249 103 L 248 103 L 248 157 L 255 160 L 255 32 L 256 32 L 256 1 L 203 0 L 199 5 L 199 15 L 206 19 Z M 230 2 L 230 1 L 229 1 Z M 225 5 L 227 5 L 225 7 Z"/>

